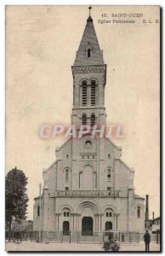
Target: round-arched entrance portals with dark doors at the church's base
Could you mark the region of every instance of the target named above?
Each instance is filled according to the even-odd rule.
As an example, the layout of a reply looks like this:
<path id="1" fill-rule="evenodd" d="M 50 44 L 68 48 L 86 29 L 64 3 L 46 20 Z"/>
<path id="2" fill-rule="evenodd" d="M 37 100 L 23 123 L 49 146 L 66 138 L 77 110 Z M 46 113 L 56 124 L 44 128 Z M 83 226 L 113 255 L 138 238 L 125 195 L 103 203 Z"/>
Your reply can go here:
<path id="1" fill-rule="evenodd" d="M 112 207 L 106 207 L 104 212 L 99 213 L 99 209 L 94 202 L 86 201 L 80 203 L 75 211 L 69 207 L 62 209 L 59 222 L 63 235 L 69 236 L 70 230 L 79 230 L 82 236 L 93 236 L 97 230 L 117 230 L 118 214 Z"/>

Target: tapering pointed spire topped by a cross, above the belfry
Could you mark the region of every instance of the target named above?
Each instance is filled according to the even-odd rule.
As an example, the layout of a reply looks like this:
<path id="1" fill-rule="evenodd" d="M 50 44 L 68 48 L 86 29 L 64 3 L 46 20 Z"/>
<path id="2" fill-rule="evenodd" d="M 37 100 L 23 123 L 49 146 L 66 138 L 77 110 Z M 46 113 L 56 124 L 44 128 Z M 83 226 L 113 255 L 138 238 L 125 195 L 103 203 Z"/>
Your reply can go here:
<path id="1" fill-rule="evenodd" d="M 102 50 L 94 30 L 93 19 L 90 15 L 92 7 L 88 7 L 89 16 L 83 32 L 83 38 L 77 50 L 74 66 L 105 64 Z"/>

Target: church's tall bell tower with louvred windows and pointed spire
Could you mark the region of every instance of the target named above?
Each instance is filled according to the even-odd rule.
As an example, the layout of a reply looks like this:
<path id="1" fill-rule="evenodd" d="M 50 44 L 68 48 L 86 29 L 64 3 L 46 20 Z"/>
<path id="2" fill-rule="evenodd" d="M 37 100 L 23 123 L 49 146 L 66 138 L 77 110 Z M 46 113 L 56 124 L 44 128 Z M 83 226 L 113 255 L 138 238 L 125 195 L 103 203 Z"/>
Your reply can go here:
<path id="1" fill-rule="evenodd" d="M 73 76 L 73 108 L 71 124 L 105 125 L 105 83 L 106 65 L 103 52 L 94 30 L 90 15 L 77 50 L 76 59 L 71 67 Z"/>

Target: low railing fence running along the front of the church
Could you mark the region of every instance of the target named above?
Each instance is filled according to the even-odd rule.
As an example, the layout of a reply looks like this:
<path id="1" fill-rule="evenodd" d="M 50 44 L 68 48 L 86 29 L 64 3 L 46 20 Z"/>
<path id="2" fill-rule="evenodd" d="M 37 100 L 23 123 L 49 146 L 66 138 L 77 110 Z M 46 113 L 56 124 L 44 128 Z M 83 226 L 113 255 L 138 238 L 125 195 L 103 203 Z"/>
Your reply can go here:
<path id="1" fill-rule="evenodd" d="M 41 235 L 41 236 L 40 236 Z M 109 236 L 109 232 L 94 232 L 93 234 L 82 234 L 80 231 L 70 231 L 67 234 L 64 234 L 62 231 L 55 232 L 41 232 L 39 231 L 12 231 L 10 233 L 11 241 L 15 239 L 20 239 L 22 241 L 39 241 L 41 237 L 41 241 L 49 241 L 49 242 L 60 242 L 60 243 L 102 243 Z M 9 240 L 9 232 L 5 234 L 6 239 Z M 139 243 L 143 241 L 144 234 L 142 233 L 134 233 L 134 232 L 113 232 L 113 239 L 116 239 L 120 242 L 128 242 L 128 243 Z M 160 234 L 151 234 L 151 241 L 156 243 L 160 243 Z"/>

